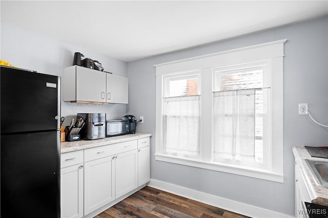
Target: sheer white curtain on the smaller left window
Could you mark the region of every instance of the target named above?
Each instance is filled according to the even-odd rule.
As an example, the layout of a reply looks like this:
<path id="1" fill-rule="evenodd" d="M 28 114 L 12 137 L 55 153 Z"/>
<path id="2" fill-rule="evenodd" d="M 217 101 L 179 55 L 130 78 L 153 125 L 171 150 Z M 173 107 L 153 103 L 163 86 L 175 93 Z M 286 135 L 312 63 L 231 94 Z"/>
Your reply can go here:
<path id="1" fill-rule="evenodd" d="M 200 95 L 163 99 L 163 153 L 200 156 Z"/>

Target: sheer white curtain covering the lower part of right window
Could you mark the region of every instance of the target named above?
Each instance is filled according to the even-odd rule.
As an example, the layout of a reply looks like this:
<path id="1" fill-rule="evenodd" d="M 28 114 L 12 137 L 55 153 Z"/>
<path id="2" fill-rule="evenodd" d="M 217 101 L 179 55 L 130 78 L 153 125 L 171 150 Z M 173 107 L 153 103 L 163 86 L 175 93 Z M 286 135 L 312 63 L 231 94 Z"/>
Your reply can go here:
<path id="1" fill-rule="evenodd" d="M 254 161 L 255 89 L 214 92 L 214 159 Z"/>

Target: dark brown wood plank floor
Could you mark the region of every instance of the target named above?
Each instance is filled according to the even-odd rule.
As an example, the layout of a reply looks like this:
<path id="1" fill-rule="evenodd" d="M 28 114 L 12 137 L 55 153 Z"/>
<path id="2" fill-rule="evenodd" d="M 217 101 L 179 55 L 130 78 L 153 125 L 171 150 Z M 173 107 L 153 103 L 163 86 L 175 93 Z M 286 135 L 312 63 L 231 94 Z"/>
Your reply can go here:
<path id="1" fill-rule="evenodd" d="M 95 218 L 244 218 L 237 213 L 222 210 L 188 198 L 146 186 L 132 196 L 117 203 Z"/>

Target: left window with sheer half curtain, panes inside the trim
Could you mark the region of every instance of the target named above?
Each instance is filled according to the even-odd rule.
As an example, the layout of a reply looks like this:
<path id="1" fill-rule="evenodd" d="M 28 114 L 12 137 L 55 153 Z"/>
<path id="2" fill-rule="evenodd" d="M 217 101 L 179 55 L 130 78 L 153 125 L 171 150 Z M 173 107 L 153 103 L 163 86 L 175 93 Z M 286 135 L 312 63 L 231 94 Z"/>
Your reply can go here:
<path id="1" fill-rule="evenodd" d="M 200 157 L 199 72 L 164 77 L 163 154 Z"/>

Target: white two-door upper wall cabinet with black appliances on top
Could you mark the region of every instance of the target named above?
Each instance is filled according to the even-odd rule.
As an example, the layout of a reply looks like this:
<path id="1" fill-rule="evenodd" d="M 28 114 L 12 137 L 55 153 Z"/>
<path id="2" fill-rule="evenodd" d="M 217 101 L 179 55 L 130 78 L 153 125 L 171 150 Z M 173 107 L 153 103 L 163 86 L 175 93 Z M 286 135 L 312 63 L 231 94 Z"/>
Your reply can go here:
<path id="1" fill-rule="evenodd" d="M 128 78 L 81 66 L 64 69 L 64 101 L 128 104 Z"/>

